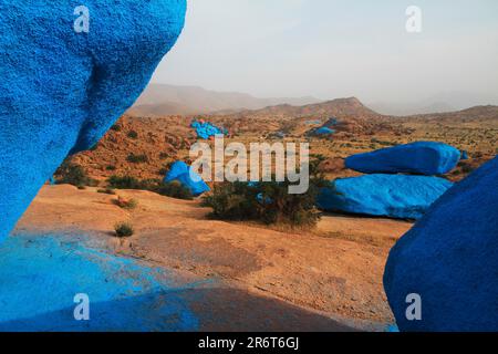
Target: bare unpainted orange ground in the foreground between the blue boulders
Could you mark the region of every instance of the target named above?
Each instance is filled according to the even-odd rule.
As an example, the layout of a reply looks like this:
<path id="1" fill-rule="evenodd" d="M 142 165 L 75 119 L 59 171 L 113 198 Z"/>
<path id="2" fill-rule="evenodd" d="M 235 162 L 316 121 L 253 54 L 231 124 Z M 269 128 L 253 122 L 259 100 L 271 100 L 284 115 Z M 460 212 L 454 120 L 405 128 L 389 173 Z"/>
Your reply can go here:
<path id="1" fill-rule="evenodd" d="M 193 294 L 206 331 L 375 331 L 393 321 L 382 274 L 409 222 L 330 215 L 315 230 L 293 233 L 208 220 L 198 201 L 138 190 L 117 195 L 138 207 L 121 209 L 117 196 L 93 188 L 45 186 L 17 231 L 85 232 L 112 252 L 197 281 L 215 279 L 203 295 Z M 131 221 L 135 236 L 115 238 L 120 221 Z"/>

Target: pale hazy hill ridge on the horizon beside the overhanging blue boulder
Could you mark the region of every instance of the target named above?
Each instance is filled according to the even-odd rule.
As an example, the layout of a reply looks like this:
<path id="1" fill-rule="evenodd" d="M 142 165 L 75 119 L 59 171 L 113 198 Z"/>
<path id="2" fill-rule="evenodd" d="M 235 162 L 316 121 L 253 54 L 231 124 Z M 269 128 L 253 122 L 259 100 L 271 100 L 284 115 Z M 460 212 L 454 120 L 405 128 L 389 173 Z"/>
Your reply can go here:
<path id="1" fill-rule="evenodd" d="M 260 110 L 278 104 L 307 105 L 317 103 L 314 97 L 258 98 L 238 92 L 216 92 L 196 86 L 151 84 L 135 105 L 133 115 L 191 115 L 215 112 Z"/>

